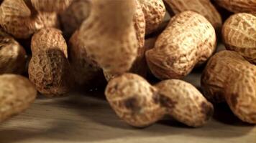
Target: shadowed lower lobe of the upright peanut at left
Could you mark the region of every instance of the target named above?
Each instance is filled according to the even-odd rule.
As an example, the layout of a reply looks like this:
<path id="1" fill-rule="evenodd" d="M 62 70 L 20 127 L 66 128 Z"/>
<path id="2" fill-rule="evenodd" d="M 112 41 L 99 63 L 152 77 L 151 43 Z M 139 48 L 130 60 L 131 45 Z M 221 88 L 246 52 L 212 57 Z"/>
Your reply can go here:
<path id="1" fill-rule="evenodd" d="M 68 59 L 60 49 L 34 54 L 28 72 L 37 91 L 48 97 L 66 94 L 73 82 Z"/>

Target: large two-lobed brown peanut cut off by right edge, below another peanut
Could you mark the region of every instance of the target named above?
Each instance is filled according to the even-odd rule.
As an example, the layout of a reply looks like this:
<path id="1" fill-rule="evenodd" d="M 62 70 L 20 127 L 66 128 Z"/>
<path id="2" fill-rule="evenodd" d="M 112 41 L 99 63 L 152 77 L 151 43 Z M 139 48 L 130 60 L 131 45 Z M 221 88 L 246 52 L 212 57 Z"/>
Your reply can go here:
<path id="1" fill-rule="evenodd" d="M 235 51 L 220 51 L 207 63 L 201 87 L 207 99 L 227 101 L 239 119 L 256 124 L 255 78 L 255 65 Z"/>

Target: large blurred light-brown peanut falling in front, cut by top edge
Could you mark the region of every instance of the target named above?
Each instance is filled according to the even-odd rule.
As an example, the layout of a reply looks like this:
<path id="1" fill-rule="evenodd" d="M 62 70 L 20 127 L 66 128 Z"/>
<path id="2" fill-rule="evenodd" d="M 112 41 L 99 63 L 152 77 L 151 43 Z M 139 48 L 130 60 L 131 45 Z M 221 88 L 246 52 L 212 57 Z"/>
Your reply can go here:
<path id="1" fill-rule="evenodd" d="M 111 74 L 128 71 L 138 49 L 132 21 L 135 1 L 94 0 L 91 6 L 91 14 L 80 29 L 88 56 Z"/>

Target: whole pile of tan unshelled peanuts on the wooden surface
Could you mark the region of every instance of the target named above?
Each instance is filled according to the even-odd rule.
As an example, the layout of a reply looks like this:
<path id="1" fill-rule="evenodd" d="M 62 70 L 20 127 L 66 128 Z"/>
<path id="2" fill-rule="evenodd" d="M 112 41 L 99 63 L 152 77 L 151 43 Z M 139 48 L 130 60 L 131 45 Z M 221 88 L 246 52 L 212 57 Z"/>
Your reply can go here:
<path id="1" fill-rule="evenodd" d="M 112 109 L 134 127 L 165 115 L 201 127 L 220 102 L 256 124 L 255 0 L 0 3 L 0 122 L 37 93 L 104 86 Z M 216 52 L 217 41 L 227 50 Z M 182 80 L 198 66 L 203 93 Z"/>

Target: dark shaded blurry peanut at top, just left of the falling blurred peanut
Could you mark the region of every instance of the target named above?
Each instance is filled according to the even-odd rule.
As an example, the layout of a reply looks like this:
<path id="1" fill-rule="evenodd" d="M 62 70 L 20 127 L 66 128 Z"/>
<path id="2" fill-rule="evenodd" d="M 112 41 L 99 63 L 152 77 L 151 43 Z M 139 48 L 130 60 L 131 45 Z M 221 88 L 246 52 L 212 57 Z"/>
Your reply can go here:
<path id="1" fill-rule="evenodd" d="M 73 0 L 68 9 L 60 14 L 63 26 L 63 35 L 69 38 L 90 14 L 90 3 L 88 0 Z"/>

